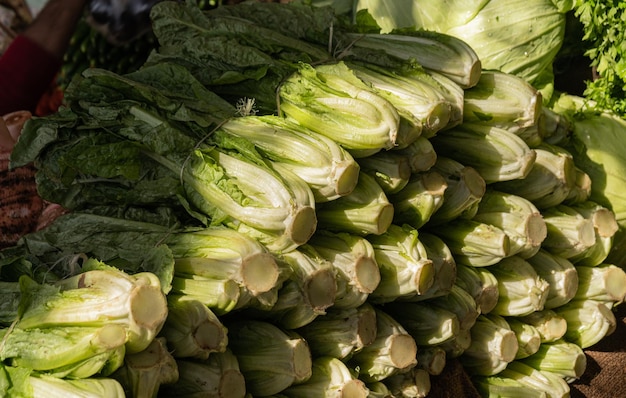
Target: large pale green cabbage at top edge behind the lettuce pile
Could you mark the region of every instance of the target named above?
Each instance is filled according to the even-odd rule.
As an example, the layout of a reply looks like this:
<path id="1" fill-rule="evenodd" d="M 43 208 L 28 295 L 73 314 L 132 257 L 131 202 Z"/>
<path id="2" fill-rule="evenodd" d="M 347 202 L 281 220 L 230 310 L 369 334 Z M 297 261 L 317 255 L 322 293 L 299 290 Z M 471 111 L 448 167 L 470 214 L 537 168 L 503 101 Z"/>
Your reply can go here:
<path id="1" fill-rule="evenodd" d="M 484 69 L 534 83 L 563 43 L 571 0 L 358 0 L 383 32 L 415 27 L 464 40 Z"/>

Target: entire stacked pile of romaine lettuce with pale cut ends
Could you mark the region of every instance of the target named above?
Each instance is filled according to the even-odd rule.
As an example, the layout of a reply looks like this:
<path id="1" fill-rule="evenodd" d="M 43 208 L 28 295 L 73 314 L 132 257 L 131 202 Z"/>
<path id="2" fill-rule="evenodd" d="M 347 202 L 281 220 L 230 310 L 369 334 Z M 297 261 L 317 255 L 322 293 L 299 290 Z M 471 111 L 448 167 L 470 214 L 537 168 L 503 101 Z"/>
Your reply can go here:
<path id="1" fill-rule="evenodd" d="M 26 123 L 11 164 L 69 212 L 0 252 L 4 394 L 424 397 L 455 359 L 569 396 L 626 297 L 589 149 L 623 121 L 342 15 L 161 2 L 141 68 Z"/>

